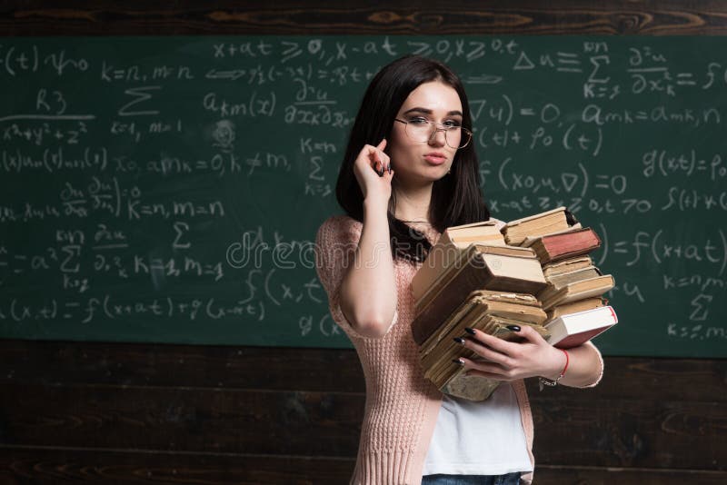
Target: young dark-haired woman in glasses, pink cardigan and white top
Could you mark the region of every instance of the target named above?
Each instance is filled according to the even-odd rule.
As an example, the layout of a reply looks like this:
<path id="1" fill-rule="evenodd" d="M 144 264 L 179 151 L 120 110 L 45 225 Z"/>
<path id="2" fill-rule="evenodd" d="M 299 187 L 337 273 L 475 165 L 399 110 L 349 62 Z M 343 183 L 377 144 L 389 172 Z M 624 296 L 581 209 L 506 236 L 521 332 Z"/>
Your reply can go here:
<path id="1" fill-rule="evenodd" d="M 533 418 L 523 379 L 588 387 L 603 374 L 591 343 L 566 356 L 530 327 L 520 343 L 478 331 L 463 345 L 470 375 L 503 383 L 482 402 L 443 395 L 423 378 L 412 338 L 411 281 L 452 225 L 487 220 L 472 120 L 459 78 L 405 56 L 369 85 L 351 131 L 336 196 L 347 215 L 317 234 L 317 269 L 334 321 L 354 343 L 366 404 L 353 484 L 529 483 Z"/>

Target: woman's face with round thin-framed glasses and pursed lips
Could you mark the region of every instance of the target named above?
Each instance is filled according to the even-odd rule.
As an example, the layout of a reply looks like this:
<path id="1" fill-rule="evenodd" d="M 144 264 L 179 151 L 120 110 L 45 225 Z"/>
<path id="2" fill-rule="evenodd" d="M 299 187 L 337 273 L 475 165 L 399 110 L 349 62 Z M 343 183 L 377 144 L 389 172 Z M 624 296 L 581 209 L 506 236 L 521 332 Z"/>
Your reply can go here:
<path id="1" fill-rule="evenodd" d="M 459 94 L 452 86 L 440 81 L 419 84 L 404 100 L 396 114 L 396 119 L 411 122 L 409 126 L 412 128 L 418 124 L 420 129 L 426 126 L 422 123 L 423 120 L 447 126 L 462 125 L 462 118 L 462 102 Z M 437 125 L 437 127 L 442 126 Z M 447 144 L 444 132 L 440 130 L 422 143 L 408 136 L 406 128 L 406 124 L 393 123 L 389 154 L 395 171 L 394 178 L 404 185 L 433 183 L 441 179 L 452 166 L 454 155 L 457 153 L 457 150 L 449 145 L 457 146 L 459 136 L 456 140 L 449 139 Z M 453 134 L 448 136 L 454 138 Z"/>

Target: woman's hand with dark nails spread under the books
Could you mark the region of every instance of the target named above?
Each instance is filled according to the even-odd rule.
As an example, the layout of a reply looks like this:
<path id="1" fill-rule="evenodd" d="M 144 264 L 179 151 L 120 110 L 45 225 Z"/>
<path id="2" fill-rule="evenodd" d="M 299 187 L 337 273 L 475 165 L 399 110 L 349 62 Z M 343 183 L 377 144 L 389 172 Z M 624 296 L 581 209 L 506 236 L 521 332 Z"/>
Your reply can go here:
<path id="1" fill-rule="evenodd" d="M 514 331 L 513 331 L 514 332 Z M 498 381 L 514 381 L 534 376 L 548 379 L 558 377 L 565 366 L 563 351 L 554 348 L 538 332 L 523 325 L 516 332 L 523 341 L 503 341 L 479 330 L 467 334 L 463 346 L 483 360 L 461 357 L 467 375 L 482 376 Z"/>

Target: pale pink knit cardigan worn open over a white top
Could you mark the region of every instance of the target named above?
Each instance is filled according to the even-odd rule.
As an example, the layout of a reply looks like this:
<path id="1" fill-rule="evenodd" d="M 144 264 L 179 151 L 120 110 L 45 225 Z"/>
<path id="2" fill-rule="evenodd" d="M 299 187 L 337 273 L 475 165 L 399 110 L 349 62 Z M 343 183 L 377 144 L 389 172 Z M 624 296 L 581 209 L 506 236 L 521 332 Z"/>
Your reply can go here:
<path id="1" fill-rule="evenodd" d="M 366 383 L 364 423 L 351 484 L 419 485 L 442 403 L 442 393 L 423 377 L 411 332 L 414 302 L 410 287 L 421 263 L 394 262 L 398 294 L 392 326 L 381 338 L 360 335 L 341 312 L 339 288 L 348 264 L 354 261 L 362 228 L 362 223 L 348 216 L 334 216 L 321 225 L 316 237 L 316 269 L 328 293 L 331 315 L 354 343 Z M 427 236 L 436 243 L 439 233 Z M 603 360 L 601 372 L 603 375 Z M 534 465 L 530 402 L 524 381 L 512 385 Z M 532 473 L 523 474 L 523 483 L 531 483 L 532 477 Z"/>

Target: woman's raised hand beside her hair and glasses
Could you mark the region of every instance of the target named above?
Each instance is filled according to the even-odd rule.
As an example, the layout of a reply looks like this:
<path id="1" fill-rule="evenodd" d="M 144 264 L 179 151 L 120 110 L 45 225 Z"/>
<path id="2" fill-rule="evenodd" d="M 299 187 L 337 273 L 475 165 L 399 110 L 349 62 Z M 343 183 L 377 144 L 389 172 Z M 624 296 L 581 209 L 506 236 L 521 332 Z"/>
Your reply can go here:
<path id="1" fill-rule="evenodd" d="M 364 199 L 388 204 L 392 195 L 393 170 L 389 155 L 383 153 L 385 147 L 385 138 L 376 146 L 364 145 L 354 161 L 354 175 Z"/>

